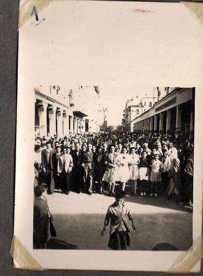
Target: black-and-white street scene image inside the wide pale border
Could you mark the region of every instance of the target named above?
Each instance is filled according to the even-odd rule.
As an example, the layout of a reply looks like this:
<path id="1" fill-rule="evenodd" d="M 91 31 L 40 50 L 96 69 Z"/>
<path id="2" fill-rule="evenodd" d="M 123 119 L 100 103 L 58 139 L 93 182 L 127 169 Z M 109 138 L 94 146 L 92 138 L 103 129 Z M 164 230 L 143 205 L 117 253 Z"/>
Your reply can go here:
<path id="1" fill-rule="evenodd" d="M 117 97 L 120 115 L 98 86 L 43 88 L 34 89 L 33 248 L 190 248 L 195 88 L 134 88 Z"/>

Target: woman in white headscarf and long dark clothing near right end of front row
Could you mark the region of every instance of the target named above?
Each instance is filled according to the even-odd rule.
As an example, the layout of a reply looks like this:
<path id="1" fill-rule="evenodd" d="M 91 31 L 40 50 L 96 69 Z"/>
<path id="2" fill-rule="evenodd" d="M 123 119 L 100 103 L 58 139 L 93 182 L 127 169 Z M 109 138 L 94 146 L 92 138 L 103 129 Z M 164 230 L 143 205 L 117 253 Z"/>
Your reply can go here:
<path id="1" fill-rule="evenodd" d="M 172 194 L 175 194 L 178 197 L 181 189 L 180 174 L 179 174 L 180 161 L 178 159 L 177 148 L 173 147 L 171 149 L 170 158 L 171 158 L 171 167 L 169 170 L 170 183 L 168 186 L 169 198 L 172 197 Z"/>

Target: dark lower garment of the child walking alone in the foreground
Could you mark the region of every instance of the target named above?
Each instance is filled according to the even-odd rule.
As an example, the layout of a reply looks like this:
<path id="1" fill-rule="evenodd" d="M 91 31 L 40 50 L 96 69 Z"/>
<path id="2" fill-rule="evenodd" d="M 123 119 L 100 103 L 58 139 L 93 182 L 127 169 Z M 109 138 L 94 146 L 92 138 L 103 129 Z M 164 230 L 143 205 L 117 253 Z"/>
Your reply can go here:
<path id="1" fill-rule="evenodd" d="M 125 250 L 130 245 L 130 238 L 127 231 L 113 232 L 108 241 L 108 247 L 113 250 Z"/>

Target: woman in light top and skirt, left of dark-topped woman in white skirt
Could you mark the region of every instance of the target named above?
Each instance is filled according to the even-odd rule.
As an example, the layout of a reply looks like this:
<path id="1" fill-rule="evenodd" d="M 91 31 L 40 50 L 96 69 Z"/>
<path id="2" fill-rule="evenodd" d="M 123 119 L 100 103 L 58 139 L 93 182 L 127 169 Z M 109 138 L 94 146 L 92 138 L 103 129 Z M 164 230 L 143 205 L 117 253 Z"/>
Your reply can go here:
<path id="1" fill-rule="evenodd" d="M 136 148 L 131 147 L 129 155 L 129 179 L 131 180 L 132 194 L 136 195 L 137 190 L 137 179 L 139 177 L 139 167 L 140 162 L 139 154 L 136 154 Z"/>

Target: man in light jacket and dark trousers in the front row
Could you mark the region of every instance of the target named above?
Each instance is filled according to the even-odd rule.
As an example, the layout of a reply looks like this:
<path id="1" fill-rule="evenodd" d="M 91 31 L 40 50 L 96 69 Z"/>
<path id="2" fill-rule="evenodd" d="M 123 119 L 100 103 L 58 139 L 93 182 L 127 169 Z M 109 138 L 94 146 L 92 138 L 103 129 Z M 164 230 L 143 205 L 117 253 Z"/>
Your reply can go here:
<path id="1" fill-rule="evenodd" d="M 70 192 L 70 178 L 73 167 L 73 159 L 67 153 L 67 146 L 63 147 L 63 154 L 58 158 L 57 173 L 60 176 L 61 192 L 69 194 Z"/>

